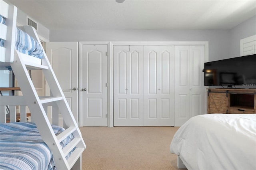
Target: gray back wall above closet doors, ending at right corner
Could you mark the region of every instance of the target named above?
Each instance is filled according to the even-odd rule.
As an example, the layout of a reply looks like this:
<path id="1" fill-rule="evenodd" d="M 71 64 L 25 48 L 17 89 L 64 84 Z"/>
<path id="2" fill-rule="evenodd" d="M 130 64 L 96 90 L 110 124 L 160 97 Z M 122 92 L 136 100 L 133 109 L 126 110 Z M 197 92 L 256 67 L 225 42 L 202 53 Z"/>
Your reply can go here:
<path id="1" fill-rule="evenodd" d="M 230 30 L 50 30 L 50 41 L 208 41 L 213 61 L 229 56 Z"/>

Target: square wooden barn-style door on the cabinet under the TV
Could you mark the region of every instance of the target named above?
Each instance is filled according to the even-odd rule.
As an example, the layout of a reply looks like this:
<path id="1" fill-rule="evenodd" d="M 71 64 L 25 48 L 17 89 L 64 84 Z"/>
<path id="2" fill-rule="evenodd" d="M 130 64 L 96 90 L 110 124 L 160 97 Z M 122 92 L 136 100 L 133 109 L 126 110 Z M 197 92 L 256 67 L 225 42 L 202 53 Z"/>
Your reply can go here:
<path id="1" fill-rule="evenodd" d="M 226 93 L 209 93 L 208 113 L 228 113 L 228 97 Z"/>

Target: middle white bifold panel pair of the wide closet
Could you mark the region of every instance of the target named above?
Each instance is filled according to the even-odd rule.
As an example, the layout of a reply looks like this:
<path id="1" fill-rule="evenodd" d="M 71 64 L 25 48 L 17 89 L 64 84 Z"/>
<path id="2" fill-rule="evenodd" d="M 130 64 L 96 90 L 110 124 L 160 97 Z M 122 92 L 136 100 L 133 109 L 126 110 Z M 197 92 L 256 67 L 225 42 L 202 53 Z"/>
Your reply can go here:
<path id="1" fill-rule="evenodd" d="M 174 126 L 174 45 L 144 46 L 144 126 Z"/>

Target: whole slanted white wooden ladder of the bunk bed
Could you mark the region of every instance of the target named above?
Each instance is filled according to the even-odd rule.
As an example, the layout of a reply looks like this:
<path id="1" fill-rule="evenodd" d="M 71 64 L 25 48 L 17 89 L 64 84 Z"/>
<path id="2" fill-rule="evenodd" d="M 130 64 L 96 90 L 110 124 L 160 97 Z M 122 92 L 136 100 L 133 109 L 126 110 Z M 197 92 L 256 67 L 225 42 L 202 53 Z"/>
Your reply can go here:
<path id="1" fill-rule="evenodd" d="M 24 30 L 40 43 L 36 31 L 32 26 L 24 26 Z M 44 53 L 42 64 L 36 64 L 24 60 L 26 57 L 28 56 L 24 56 L 22 53 L 15 50 L 14 62 L 10 63 L 10 65 L 31 112 L 33 121 L 36 123 L 42 139 L 52 151 L 56 168 L 58 170 L 70 170 L 72 167 L 73 169 L 80 169 L 82 164 L 81 155 L 86 145 L 48 58 Z M 51 97 L 39 98 L 27 71 L 30 69 L 42 69 L 52 93 Z M 68 127 L 58 136 L 54 134 L 46 111 L 44 110 L 44 108 L 49 105 L 56 105 L 58 107 L 65 125 Z M 70 134 L 73 134 L 74 139 L 62 149 L 60 142 Z M 71 156 L 66 159 L 65 157 L 74 147 L 76 147 L 76 149 L 72 152 Z"/>

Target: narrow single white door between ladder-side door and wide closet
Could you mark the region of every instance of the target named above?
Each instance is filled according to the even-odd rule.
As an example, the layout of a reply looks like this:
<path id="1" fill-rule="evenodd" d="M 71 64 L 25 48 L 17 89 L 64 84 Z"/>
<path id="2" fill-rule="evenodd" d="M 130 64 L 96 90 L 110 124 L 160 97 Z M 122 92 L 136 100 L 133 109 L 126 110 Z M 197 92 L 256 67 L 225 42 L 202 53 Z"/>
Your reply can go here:
<path id="1" fill-rule="evenodd" d="M 82 45 L 80 94 L 83 126 L 107 126 L 107 45 Z"/>

